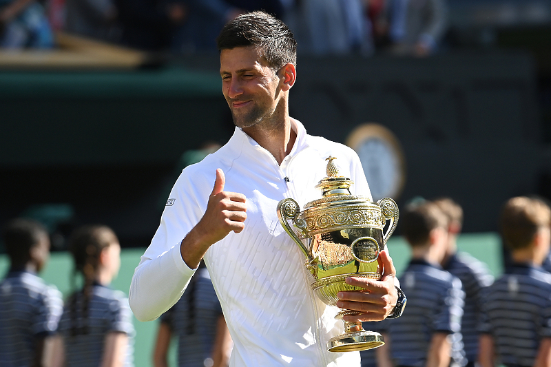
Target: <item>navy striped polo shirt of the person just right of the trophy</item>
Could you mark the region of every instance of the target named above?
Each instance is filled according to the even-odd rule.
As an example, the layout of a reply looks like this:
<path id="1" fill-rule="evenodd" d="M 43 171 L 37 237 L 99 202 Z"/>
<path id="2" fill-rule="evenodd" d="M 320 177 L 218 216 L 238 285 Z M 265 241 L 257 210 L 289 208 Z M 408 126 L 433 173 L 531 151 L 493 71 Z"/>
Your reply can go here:
<path id="1" fill-rule="evenodd" d="M 391 357 L 397 366 L 425 366 L 430 341 L 435 333 L 453 340 L 451 366 L 464 366 L 461 316 L 464 291 L 461 280 L 424 260 L 412 260 L 399 278 L 408 298 L 397 319 L 384 324 L 391 337 Z"/>

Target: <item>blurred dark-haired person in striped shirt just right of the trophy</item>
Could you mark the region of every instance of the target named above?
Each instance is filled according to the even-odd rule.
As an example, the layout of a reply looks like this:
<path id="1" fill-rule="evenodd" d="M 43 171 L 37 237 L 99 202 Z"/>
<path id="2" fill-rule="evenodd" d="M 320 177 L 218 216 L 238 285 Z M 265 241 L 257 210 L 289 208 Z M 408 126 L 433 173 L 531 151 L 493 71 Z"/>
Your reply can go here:
<path id="1" fill-rule="evenodd" d="M 402 317 L 383 322 L 391 345 L 379 366 L 463 366 L 449 335 L 460 332 L 465 295 L 461 280 L 440 266 L 448 220 L 435 203 L 423 201 L 406 207 L 400 225 L 412 252 L 399 277 L 408 305 Z"/>

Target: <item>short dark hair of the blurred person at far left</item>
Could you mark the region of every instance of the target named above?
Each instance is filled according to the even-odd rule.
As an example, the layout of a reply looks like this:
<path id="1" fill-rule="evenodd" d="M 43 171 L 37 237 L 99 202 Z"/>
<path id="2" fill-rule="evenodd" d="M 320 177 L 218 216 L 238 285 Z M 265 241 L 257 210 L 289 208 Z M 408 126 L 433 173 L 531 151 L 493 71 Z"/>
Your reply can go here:
<path id="1" fill-rule="evenodd" d="M 12 264 L 24 264 L 30 260 L 30 250 L 48 236 L 45 227 L 36 220 L 16 218 L 3 227 L 2 240 Z"/>

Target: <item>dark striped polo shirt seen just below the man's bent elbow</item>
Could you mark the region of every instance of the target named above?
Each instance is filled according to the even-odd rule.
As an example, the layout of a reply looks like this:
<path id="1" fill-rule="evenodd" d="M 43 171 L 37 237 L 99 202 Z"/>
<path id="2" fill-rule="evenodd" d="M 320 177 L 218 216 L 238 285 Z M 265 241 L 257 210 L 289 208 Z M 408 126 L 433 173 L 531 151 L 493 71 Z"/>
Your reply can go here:
<path id="1" fill-rule="evenodd" d="M 184 294 L 161 322 L 178 336 L 178 366 L 211 366 L 212 348 L 222 307 L 206 268 L 198 269 Z"/>

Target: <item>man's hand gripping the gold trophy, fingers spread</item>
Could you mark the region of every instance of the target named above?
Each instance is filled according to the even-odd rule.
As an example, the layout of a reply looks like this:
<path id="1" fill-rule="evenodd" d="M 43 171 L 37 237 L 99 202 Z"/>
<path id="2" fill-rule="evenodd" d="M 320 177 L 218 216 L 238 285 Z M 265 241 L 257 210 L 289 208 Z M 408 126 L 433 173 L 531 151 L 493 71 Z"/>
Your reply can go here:
<path id="1" fill-rule="evenodd" d="M 386 251 L 379 253 L 383 273 L 380 280 L 364 277 L 347 277 L 346 284 L 360 286 L 365 291 L 340 292 L 337 307 L 359 311 L 360 315 L 344 316 L 344 321 L 381 321 L 390 315 L 396 306 L 398 293 L 394 286 L 396 269 Z"/>

